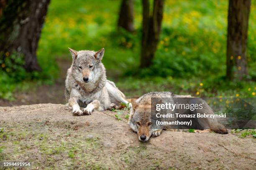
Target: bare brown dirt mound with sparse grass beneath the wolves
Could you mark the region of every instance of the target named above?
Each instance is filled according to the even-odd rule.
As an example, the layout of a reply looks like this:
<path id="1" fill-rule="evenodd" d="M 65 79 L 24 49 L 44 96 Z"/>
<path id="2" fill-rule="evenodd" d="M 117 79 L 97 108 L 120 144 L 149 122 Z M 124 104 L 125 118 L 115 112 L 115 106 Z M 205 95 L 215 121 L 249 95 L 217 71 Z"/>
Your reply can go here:
<path id="1" fill-rule="evenodd" d="M 119 111 L 118 111 L 119 112 Z M 164 131 L 142 143 L 123 110 L 72 116 L 61 104 L 0 107 L 0 161 L 33 169 L 253 170 L 256 140 L 215 133 Z"/>

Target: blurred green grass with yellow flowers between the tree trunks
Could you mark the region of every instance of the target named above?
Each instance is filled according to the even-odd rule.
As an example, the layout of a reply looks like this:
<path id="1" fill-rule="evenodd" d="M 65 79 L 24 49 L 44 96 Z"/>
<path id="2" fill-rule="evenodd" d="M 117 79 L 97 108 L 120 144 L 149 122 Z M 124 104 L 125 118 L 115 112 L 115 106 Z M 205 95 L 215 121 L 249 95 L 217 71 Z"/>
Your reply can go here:
<path id="1" fill-rule="evenodd" d="M 255 97 L 256 1 L 251 3 L 249 18 L 249 82 L 225 80 L 227 0 L 165 1 L 155 58 L 151 67 L 142 70 L 138 69 L 141 2 L 134 4 L 136 32 L 133 34 L 117 32 L 119 6 L 120 0 L 52 0 L 37 51 L 42 72 L 28 74 L 18 69 L 13 71 L 14 75 L 1 72 L 0 97 L 14 99 L 14 90 L 29 86 L 31 80 L 52 84 L 59 70 L 56 57 L 71 57 L 67 47 L 75 50 L 105 47 L 102 62 L 108 78 L 115 80 L 128 96 L 157 90 L 196 96 Z M 18 81 L 17 75 L 21 77 Z"/>

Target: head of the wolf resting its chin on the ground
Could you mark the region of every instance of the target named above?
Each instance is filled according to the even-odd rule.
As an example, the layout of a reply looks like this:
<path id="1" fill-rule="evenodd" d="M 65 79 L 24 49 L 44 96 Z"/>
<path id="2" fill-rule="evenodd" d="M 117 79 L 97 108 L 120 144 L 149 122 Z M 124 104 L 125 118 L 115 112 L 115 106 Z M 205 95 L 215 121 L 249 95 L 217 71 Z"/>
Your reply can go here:
<path id="1" fill-rule="evenodd" d="M 128 124 L 138 134 L 138 139 L 146 142 L 154 132 L 156 122 L 151 120 L 151 105 L 132 103 Z"/>

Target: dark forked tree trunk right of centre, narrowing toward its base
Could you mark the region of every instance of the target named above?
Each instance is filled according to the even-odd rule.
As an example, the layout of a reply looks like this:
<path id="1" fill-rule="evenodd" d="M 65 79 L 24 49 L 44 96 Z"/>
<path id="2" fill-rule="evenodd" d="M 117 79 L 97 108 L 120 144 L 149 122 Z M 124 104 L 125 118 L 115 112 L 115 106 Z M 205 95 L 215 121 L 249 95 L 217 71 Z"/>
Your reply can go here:
<path id="1" fill-rule="evenodd" d="M 143 25 L 141 40 L 141 68 L 151 65 L 156 52 L 161 23 L 163 19 L 164 0 L 154 0 L 153 13 L 150 15 L 150 4 L 148 0 L 142 0 Z"/>

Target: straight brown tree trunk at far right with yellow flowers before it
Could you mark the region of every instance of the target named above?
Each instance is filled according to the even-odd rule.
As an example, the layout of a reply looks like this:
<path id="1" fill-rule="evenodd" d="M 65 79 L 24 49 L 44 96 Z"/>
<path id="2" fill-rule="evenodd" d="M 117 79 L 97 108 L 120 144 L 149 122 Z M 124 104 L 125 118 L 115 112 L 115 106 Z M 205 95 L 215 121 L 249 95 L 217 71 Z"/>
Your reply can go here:
<path id="1" fill-rule="evenodd" d="M 229 0 L 226 76 L 241 80 L 247 72 L 246 50 L 251 0 Z"/>

